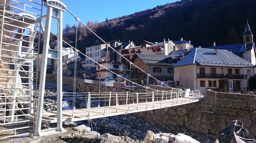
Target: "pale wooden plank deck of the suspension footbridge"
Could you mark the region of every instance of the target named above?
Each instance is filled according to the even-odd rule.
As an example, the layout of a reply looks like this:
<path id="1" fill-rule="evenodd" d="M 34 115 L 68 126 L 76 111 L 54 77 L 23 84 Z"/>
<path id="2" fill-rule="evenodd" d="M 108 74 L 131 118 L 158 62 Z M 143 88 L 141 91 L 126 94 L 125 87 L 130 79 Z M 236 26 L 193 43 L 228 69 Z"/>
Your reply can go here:
<path id="1" fill-rule="evenodd" d="M 199 99 L 199 98 L 198 98 Z M 91 108 L 91 113 L 89 115 L 89 109 L 74 109 L 74 110 L 62 110 L 62 115 L 64 120 L 75 120 L 82 121 L 88 119 L 103 118 L 104 116 L 113 116 L 119 114 L 135 113 L 141 111 L 161 109 L 165 107 L 179 106 L 187 104 L 190 102 L 198 101 L 196 98 L 177 98 L 177 99 L 167 99 L 159 100 L 154 102 L 141 102 L 141 103 L 132 103 L 128 105 L 118 105 L 116 106 L 107 106 L 107 107 L 94 107 Z M 57 118 L 51 117 L 52 115 L 57 115 L 57 111 L 51 111 L 43 114 L 44 119 L 48 120 L 57 120 Z M 73 115 L 73 118 L 72 118 Z"/>

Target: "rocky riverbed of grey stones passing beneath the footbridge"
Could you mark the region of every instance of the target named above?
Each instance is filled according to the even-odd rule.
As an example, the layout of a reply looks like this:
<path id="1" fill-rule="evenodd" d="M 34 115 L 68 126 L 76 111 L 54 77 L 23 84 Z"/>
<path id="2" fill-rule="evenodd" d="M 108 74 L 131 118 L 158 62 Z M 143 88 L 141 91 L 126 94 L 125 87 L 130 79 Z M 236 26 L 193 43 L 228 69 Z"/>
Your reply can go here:
<path id="1" fill-rule="evenodd" d="M 72 90 L 73 87 L 63 85 L 63 92 L 72 92 Z M 84 99 L 77 99 L 76 105 L 81 105 L 81 103 L 84 102 Z M 63 101 L 63 108 L 72 107 L 71 104 L 70 101 Z M 43 108 L 44 112 L 57 110 L 55 83 L 47 82 L 46 84 Z M 79 106 L 76 108 L 79 108 Z M 44 140 L 40 139 L 38 142 L 143 142 L 148 130 L 154 133 L 178 134 L 177 131 L 172 131 L 168 127 L 159 128 L 157 124 L 147 123 L 132 114 L 110 116 L 107 118 L 75 123 L 65 122 L 64 124 L 66 127 L 70 126 L 72 130 L 75 130 L 73 127 L 81 125 L 90 127 L 90 129 L 80 129 L 80 131 L 72 132 L 65 136 L 49 137 Z M 182 128 L 181 133 L 189 135 L 199 142 L 207 143 L 211 142 L 214 137 L 213 135 L 209 136 L 193 133 L 186 128 Z"/>

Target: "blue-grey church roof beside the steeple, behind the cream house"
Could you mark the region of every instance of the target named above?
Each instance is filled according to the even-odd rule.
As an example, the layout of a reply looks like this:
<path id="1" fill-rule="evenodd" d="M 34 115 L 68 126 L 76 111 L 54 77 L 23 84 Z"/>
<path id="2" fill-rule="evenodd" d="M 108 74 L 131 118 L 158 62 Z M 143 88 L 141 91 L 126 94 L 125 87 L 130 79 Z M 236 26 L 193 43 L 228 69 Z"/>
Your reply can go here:
<path id="1" fill-rule="evenodd" d="M 246 44 L 246 49 L 247 50 L 251 50 L 254 46 L 254 43 L 252 44 Z M 224 50 L 228 50 L 228 51 L 232 51 L 233 54 L 241 54 L 244 53 L 246 51 L 246 49 L 244 48 L 244 44 L 232 44 L 232 45 L 220 45 L 220 46 L 210 46 L 210 47 L 204 47 L 207 49 L 224 49 Z"/>

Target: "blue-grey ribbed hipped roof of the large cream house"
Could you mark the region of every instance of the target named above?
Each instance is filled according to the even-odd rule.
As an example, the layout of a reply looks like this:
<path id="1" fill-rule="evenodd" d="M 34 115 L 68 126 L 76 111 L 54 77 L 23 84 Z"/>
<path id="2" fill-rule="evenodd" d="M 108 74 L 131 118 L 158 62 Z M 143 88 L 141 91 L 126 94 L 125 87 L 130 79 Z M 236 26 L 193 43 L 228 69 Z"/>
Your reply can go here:
<path id="1" fill-rule="evenodd" d="M 215 49 L 196 48 L 180 61 L 175 63 L 173 67 L 186 66 L 190 64 L 233 68 L 246 68 L 254 66 L 252 63 L 238 57 L 228 50 L 218 49 L 218 54 L 215 54 Z"/>

